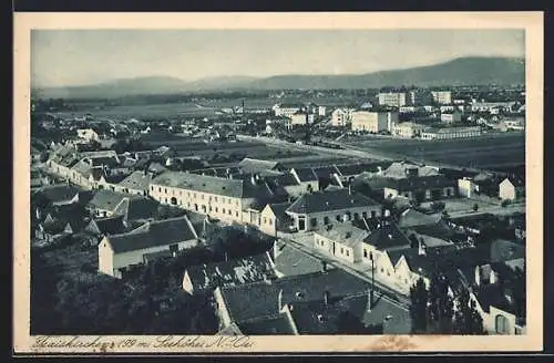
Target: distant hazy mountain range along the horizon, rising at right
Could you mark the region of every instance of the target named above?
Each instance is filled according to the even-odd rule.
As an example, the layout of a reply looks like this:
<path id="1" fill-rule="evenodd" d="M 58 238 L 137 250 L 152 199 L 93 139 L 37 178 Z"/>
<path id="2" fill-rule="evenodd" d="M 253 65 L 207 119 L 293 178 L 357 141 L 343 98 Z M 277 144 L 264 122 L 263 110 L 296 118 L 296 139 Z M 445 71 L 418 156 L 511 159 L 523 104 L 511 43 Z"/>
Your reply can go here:
<path id="1" fill-rule="evenodd" d="M 175 94 L 222 90 L 330 90 L 383 86 L 511 85 L 525 83 L 525 63 L 516 58 L 459 58 L 444 63 L 367 74 L 269 77 L 217 76 L 186 82 L 172 76 L 120 79 L 66 87 L 33 87 L 33 94 L 52 98 L 113 98 L 138 94 Z"/>

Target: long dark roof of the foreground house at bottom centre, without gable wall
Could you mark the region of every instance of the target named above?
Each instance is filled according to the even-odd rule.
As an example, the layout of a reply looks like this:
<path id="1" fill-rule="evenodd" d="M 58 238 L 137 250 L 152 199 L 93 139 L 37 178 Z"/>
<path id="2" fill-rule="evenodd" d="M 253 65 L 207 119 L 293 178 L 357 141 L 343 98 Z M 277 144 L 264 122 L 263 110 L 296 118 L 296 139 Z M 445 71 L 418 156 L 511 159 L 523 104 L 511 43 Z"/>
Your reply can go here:
<path id="1" fill-rule="evenodd" d="M 284 304 L 294 304 L 298 301 L 322 300 L 325 291 L 328 291 L 330 297 L 338 298 L 367 289 L 366 281 L 340 269 L 334 269 L 325 273 L 287 277 L 273 282 L 226 287 L 220 291 L 232 320 L 242 322 L 278 313 L 279 291 L 283 291 Z"/>

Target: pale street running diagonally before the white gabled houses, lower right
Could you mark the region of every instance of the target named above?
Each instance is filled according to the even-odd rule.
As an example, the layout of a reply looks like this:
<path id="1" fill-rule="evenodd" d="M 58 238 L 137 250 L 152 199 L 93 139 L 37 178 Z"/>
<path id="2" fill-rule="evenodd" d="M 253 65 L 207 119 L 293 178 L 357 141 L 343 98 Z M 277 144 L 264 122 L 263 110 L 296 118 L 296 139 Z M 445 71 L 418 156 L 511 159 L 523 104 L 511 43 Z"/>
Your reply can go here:
<path id="1" fill-rule="evenodd" d="M 355 265 L 349 265 L 342 261 L 339 261 L 338 259 L 334 258 L 332 256 L 325 255 L 322 252 L 317 251 L 314 247 L 311 247 L 310 241 L 312 240 L 310 234 L 306 235 L 299 235 L 299 234 L 281 234 L 278 232 L 277 236 L 284 240 L 286 243 L 297 248 L 298 250 L 316 258 L 321 261 L 326 261 L 327 263 L 342 269 L 369 283 L 373 283 L 373 280 L 371 278 L 371 267 L 362 266 L 361 263 L 355 263 Z M 402 294 L 401 292 L 393 290 L 389 288 L 388 286 L 383 284 L 380 282 L 377 277 L 375 279 L 375 292 L 376 292 L 376 298 L 378 294 L 381 295 L 382 299 L 387 300 L 391 304 L 394 304 L 401 309 L 409 309 L 410 307 L 410 299 L 408 295 Z"/>

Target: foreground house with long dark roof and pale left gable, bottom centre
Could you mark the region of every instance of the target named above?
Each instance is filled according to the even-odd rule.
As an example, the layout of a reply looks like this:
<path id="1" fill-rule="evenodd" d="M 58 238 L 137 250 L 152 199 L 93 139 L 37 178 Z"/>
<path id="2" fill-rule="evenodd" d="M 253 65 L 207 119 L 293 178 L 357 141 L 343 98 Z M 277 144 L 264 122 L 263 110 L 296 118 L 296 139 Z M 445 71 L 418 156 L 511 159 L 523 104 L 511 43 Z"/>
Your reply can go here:
<path id="1" fill-rule="evenodd" d="M 340 269 L 273 281 L 217 288 L 214 292 L 220 329 L 233 323 L 290 315 L 295 307 L 307 302 L 330 303 L 365 293 L 368 283 Z M 255 303 L 253 303 L 255 302 Z M 289 321 L 294 322 L 290 315 Z M 297 331 L 296 326 L 293 329 Z"/>

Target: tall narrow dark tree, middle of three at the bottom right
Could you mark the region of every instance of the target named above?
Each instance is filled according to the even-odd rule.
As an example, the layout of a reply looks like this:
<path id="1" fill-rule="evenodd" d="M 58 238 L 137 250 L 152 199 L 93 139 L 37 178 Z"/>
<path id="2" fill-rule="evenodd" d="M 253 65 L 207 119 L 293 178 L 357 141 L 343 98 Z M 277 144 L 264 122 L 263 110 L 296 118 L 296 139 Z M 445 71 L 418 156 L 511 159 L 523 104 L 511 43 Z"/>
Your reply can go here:
<path id="1" fill-rule="evenodd" d="M 454 303 L 449 294 L 447 278 L 441 273 L 434 274 L 429 287 L 429 318 L 437 323 L 442 333 L 450 330 L 453 308 Z"/>

